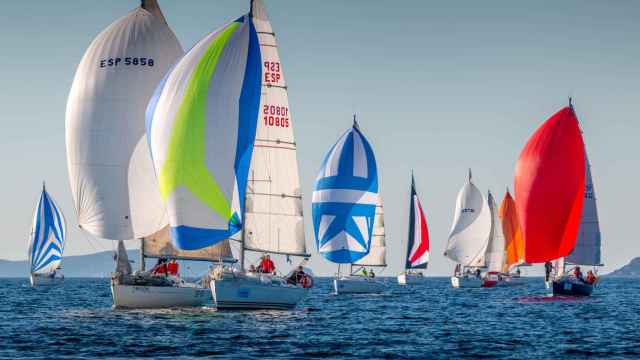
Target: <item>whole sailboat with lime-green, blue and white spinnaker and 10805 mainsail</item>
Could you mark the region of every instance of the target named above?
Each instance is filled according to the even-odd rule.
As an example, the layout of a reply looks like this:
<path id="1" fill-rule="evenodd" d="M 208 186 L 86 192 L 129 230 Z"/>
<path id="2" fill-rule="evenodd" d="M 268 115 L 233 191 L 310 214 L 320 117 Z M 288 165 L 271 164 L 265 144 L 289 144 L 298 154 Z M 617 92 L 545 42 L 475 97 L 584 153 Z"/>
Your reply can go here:
<path id="1" fill-rule="evenodd" d="M 245 270 L 247 251 L 308 257 L 287 86 L 262 1 L 187 52 L 148 116 L 176 247 L 197 250 L 240 234 L 239 267 L 210 274 L 215 306 L 293 308 L 309 291 L 308 275 L 292 283 Z"/>

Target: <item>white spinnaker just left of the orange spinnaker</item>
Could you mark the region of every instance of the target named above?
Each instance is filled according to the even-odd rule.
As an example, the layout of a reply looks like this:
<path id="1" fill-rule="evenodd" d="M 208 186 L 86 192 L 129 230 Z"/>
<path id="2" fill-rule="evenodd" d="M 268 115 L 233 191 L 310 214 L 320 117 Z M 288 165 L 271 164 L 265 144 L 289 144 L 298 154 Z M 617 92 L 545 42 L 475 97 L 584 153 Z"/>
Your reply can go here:
<path id="1" fill-rule="evenodd" d="M 484 266 L 490 233 L 489 207 L 480 190 L 469 180 L 458 193 L 445 255 L 463 266 Z"/>

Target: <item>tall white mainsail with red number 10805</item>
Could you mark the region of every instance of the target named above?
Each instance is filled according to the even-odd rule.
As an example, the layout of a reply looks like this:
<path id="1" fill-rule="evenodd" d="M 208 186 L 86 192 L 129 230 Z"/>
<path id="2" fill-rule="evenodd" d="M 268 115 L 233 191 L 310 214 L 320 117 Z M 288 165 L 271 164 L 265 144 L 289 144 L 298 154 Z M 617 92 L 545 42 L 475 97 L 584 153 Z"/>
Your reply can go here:
<path id="1" fill-rule="evenodd" d="M 287 85 L 276 38 L 261 0 L 253 21 L 262 53 L 262 96 L 247 183 L 244 245 L 256 251 L 306 254 L 302 192 Z"/>

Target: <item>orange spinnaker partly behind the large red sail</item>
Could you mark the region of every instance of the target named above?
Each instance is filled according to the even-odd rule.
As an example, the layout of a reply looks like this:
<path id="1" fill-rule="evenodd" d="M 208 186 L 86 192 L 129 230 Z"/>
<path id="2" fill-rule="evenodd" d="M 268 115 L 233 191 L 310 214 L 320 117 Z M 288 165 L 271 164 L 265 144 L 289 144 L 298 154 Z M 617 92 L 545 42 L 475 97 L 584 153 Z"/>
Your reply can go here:
<path id="1" fill-rule="evenodd" d="M 502 271 L 507 272 L 512 265 L 520 264 L 524 261 L 524 239 L 520 230 L 516 203 L 511 194 L 509 194 L 509 190 L 507 190 L 504 199 L 502 199 L 499 215 L 507 253 Z"/>

